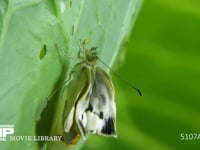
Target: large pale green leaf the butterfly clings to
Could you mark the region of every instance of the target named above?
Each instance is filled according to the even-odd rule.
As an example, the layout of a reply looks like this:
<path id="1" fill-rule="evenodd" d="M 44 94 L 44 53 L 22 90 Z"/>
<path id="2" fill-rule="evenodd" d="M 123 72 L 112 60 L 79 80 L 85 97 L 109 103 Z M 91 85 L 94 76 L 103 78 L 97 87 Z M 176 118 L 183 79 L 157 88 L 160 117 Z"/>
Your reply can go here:
<path id="1" fill-rule="evenodd" d="M 52 98 L 45 108 L 45 98 L 77 62 L 72 30 L 78 39 L 89 40 L 87 47 L 97 46 L 111 66 L 140 5 L 141 0 L 0 1 L 0 124 L 14 124 L 14 136 L 57 135 L 61 118 L 55 118 L 64 102 Z M 62 52 L 70 53 L 66 64 Z M 37 142 L 0 144 L 2 149 L 38 148 Z"/>

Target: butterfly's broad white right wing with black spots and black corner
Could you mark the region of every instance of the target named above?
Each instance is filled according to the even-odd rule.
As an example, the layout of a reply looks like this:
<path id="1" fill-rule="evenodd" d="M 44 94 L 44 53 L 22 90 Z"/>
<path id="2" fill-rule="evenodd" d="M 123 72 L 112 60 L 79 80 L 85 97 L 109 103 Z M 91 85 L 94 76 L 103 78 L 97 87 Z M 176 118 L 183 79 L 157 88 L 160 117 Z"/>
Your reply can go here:
<path id="1" fill-rule="evenodd" d="M 85 110 L 88 133 L 116 137 L 116 104 L 114 87 L 109 75 L 96 68 L 88 108 Z"/>

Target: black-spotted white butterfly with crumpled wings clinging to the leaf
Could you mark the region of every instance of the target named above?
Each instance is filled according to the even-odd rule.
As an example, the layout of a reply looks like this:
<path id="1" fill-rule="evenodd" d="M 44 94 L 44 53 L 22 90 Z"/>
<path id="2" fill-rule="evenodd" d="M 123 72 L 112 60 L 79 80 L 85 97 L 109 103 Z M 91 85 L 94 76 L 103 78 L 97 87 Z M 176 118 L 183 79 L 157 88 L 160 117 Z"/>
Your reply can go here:
<path id="1" fill-rule="evenodd" d="M 88 134 L 117 137 L 115 90 L 109 74 L 97 66 L 97 47 L 79 50 L 78 58 L 63 88 L 64 141 L 77 144 Z"/>

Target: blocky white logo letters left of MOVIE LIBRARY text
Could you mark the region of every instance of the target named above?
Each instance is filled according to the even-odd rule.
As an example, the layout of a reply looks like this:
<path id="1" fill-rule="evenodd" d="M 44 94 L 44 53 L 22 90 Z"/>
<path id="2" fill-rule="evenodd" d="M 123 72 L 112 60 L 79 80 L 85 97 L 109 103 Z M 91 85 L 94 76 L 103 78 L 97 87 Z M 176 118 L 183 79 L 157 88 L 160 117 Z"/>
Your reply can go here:
<path id="1" fill-rule="evenodd" d="M 14 125 L 0 125 L 0 141 L 6 141 L 6 136 L 13 133 Z"/>

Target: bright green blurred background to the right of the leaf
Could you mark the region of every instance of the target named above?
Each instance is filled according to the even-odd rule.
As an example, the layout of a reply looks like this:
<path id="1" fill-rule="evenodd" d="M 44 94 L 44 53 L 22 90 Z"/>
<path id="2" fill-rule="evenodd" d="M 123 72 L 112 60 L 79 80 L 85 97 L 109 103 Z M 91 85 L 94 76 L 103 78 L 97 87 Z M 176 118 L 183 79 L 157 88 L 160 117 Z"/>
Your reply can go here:
<path id="1" fill-rule="evenodd" d="M 200 134 L 200 1 L 144 1 L 118 72 L 113 76 L 118 138 L 90 136 L 84 150 L 196 150 Z M 116 64 L 120 65 L 121 64 Z"/>

